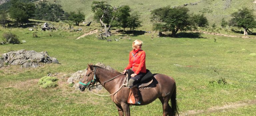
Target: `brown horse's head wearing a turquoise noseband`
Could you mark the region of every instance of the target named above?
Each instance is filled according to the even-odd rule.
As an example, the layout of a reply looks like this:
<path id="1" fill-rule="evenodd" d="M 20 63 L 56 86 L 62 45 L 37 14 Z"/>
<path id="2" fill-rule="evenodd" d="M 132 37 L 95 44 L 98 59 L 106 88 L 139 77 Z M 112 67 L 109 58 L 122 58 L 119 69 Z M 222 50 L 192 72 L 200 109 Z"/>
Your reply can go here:
<path id="1" fill-rule="evenodd" d="M 88 64 L 86 74 L 84 77 L 79 81 L 79 89 L 84 91 L 86 87 L 95 84 L 95 67 Z"/>

